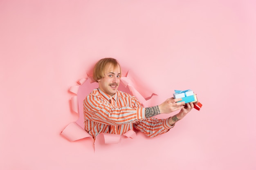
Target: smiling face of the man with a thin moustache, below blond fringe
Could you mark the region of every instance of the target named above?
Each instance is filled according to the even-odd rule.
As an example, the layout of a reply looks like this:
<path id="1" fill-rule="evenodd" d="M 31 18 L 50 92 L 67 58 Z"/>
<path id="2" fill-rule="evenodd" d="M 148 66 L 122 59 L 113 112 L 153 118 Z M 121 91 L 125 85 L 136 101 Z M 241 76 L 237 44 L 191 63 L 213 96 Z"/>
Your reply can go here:
<path id="1" fill-rule="evenodd" d="M 99 88 L 104 93 L 107 93 L 108 95 L 112 96 L 117 93 L 117 88 L 120 83 L 120 77 L 121 77 L 121 70 L 120 67 L 117 66 L 114 68 L 112 64 L 107 64 L 104 77 L 98 80 Z"/>

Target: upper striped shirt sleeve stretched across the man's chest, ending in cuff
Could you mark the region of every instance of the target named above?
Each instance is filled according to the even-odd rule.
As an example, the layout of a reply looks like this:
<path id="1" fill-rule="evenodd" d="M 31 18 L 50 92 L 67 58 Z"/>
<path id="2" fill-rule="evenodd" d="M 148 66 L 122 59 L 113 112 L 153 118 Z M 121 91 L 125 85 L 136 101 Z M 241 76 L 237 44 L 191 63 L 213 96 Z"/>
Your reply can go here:
<path id="1" fill-rule="evenodd" d="M 99 95 L 88 95 L 83 101 L 83 111 L 86 119 L 115 126 L 145 118 L 145 108 L 116 107 Z"/>

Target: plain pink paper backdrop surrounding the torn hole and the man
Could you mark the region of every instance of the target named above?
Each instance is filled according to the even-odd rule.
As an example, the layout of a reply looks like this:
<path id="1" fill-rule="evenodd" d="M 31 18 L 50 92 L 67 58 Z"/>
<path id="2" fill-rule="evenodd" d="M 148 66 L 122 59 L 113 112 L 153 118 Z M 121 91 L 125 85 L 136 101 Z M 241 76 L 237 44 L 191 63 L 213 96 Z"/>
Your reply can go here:
<path id="1" fill-rule="evenodd" d="M 256 169 L 254 0 L 0 0 L 0 169 Z M 161 104 L 203 107 L 155 138 L 68 141 L 70 86 L 115 57 Z M 175 113 L 163 115 L 171 116 Z"/>

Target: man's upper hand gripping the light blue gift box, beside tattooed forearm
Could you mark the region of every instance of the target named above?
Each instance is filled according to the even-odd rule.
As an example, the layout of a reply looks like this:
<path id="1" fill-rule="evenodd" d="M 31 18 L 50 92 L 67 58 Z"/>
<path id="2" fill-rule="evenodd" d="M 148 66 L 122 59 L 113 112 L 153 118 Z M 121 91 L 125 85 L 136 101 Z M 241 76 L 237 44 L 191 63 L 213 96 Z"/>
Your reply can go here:
<path id="1" fill-rule="evenodd" d="M 182 99 L 169 98 L 158 106 L 160 113 L 172 113 L 184 108 L 185 102 L 179 102 Z"/>

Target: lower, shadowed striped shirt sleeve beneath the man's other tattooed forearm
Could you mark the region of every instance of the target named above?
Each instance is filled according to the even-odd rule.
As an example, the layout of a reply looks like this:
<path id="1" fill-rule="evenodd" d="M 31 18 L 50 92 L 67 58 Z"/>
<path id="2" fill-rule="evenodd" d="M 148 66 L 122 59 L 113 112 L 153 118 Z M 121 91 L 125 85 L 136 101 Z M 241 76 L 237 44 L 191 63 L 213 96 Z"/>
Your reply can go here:
<path id="1" fill-rule="evenodd" d="M 175 125 L 175 124 L 174 124 Z M 139 120 L 134 124 L 137 130 L 140 130 L 148 137 L 156 137 L 157 135 L 164 134 L 174 127 L 168 123 L 167 119 L 156 119 L 149 117 L 143 120 Z"/>

